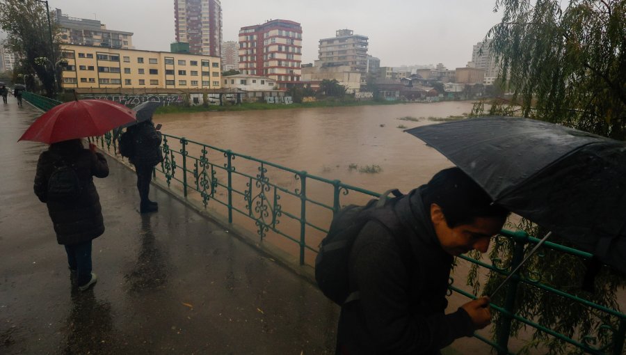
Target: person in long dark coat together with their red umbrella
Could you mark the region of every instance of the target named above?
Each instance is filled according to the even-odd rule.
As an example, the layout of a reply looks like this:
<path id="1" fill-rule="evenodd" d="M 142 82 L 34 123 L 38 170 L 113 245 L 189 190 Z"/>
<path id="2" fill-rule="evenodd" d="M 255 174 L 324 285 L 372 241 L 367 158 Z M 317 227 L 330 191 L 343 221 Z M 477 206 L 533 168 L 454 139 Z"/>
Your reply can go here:
<path id="1" fill-rule="evenodd" d="M 85 149 L 81 138 L 100 136 L 135 120 L 133 111 L 116 102 L 74 100 L 44 113 L 19 139 L 50 145 L 37 162 L 35 195 L 48 207 L 56 240 L 65 246 L 70 279 L 81 291 L 97 281 L 91 246 L 104 233 L 93 177 L 109 175 L 104 155 L 95 152 L 93 144 Z"/>

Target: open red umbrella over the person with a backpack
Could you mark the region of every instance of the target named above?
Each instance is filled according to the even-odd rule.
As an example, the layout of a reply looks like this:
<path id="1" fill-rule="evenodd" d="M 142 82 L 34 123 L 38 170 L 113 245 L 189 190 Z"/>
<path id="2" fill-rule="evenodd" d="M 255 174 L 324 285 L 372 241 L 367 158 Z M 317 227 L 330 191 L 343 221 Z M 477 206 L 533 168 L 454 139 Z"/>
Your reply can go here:
<path id="1" fill-rule="evenodd" d="M 26 129 L 18 141 L 56 143 L 102 136 L 136 120 L 135 112 L 109 100 L 74 100 L 53 107 Z"/>

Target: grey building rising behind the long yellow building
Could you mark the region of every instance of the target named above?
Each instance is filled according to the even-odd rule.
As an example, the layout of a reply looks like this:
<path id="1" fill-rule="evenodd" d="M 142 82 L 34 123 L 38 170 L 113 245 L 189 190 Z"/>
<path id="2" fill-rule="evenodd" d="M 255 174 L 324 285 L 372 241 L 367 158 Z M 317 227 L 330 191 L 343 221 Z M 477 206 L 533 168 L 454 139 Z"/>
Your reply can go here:
<path id="1" fill-rule="evenodd" d="M 134 48 L 132 32 L 106 29 L 106 26 L 97 19 L 70 17 L 63 14 L 58 8 L 54 13 L 54 20 L 61 29 L 60 38 L 64 43 L 123 49 Z"/>

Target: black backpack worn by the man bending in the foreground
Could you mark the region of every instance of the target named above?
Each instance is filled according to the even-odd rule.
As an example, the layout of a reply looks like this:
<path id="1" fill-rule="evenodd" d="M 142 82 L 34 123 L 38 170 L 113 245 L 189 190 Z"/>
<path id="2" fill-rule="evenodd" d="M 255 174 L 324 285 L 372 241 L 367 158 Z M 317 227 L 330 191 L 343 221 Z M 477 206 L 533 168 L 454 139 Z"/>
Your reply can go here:
<path id="1" fill-rule="evenodd" d="M 394 198 L 387 198 L 392 193 Z M 351 290 L 349 281 L 350 252 L 355 239 L 368 221 L 379 221 L 394 236 L 400 249 L 403 264 L 409 267 L 412 253 L 406 228 L 403 228 L 394 205 L 405 195 L 397 189 L 385 192 L 380 199 L 372 199 L 364 206 L 348 205 L 332 218 L 330 230 L 319 245 L 315 258 L 315 281 L 321 292 L 342 306 L 358 299 L 358 292 Z M 408 195 L 406 195 L 408 198 Z"/>

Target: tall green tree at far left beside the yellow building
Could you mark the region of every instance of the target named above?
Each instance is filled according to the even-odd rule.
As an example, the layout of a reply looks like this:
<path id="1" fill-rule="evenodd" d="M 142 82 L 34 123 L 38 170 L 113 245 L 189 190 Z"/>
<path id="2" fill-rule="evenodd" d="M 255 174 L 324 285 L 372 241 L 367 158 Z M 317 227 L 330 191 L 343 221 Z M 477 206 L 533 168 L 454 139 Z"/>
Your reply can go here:
<path id="1" fill-rule="evenodd" d="M 19 58 L 17 70 L 35 73 L 48 96 L 54 96 L 54 71 L 61 53 L 58 27 L 51 23 L 45 6 L 34 0 L 0 0 L 0 28 L 7 33 L 4 45 Z"/>

